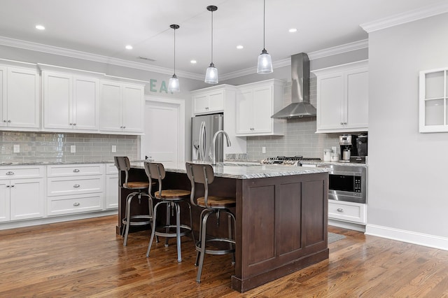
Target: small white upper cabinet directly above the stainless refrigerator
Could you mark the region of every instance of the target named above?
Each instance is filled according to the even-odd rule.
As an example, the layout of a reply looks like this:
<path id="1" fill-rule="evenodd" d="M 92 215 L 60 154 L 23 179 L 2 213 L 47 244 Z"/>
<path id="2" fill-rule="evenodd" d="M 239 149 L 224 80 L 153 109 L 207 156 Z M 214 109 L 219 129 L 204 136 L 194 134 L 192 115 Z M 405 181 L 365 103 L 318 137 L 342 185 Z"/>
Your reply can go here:
<path id="1" fill-rule="evenodd" d="M 221 113 L 224 111 L 225 90 L 210 87 L 193 92 L 193 115 Z"/>

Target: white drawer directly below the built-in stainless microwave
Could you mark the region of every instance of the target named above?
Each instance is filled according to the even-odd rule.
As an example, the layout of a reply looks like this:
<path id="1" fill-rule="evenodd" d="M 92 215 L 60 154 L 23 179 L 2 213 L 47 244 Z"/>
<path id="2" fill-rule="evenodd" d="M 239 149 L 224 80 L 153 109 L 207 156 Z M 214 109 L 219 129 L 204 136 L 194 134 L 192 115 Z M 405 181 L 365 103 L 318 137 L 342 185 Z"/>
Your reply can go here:
<path id="1" fill-rule="evenodd" d="M 335 220 L 345 220 L 349 222 L 366 222 L 365 204 L 351 202 L 328 201 L 328 218 Z"/>

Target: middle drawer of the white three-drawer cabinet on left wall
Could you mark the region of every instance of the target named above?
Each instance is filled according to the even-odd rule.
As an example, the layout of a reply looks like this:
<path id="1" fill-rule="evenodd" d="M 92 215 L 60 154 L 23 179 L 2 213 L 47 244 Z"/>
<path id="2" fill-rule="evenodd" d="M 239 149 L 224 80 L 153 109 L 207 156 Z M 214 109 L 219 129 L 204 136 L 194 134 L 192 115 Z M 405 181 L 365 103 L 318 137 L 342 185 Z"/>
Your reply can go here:
<path id="1" fill-rule="evenodd" d="M 104 192 L 104 176 L 48 178 L 47 195 L 89 194 Z"/>

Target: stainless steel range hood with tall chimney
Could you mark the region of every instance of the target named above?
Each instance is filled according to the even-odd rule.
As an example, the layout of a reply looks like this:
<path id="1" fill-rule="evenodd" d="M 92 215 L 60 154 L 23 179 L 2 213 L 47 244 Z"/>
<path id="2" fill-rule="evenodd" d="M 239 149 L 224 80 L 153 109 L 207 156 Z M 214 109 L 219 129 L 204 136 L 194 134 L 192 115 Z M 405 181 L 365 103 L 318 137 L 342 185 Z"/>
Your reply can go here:
<path id="1" fill-rule="evenodd" d="M 304 52 L 291 56 L 291 82 L 293 102 L 271 118 L 316 117 L 316 108 L 309 103 L 309 58 Z"/>

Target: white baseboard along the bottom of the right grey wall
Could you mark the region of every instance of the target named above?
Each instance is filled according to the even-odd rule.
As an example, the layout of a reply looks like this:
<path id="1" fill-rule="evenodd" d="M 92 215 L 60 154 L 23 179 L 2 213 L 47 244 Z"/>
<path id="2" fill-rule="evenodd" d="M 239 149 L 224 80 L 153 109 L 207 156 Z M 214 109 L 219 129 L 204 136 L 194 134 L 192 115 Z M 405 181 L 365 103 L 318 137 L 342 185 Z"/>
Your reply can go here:
<path id="1" fill-rule="evenodd" d="M 417 244 L 419 246 L 448 250 L 448 238 L 446 237 L 416 233 L 391 227 L 382 227 L 379 225 L 367 225 L 365 227 L 365 234 Z"/>

